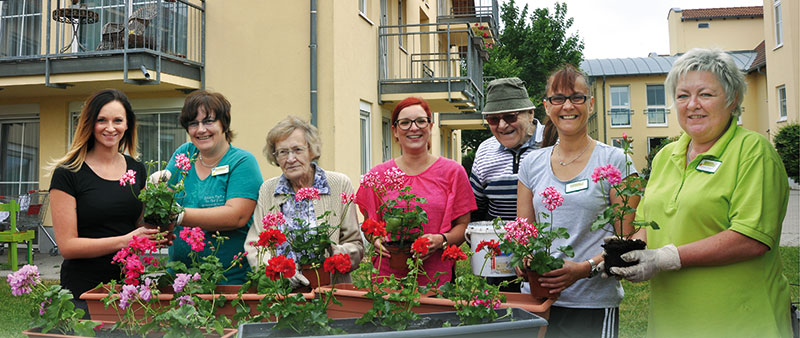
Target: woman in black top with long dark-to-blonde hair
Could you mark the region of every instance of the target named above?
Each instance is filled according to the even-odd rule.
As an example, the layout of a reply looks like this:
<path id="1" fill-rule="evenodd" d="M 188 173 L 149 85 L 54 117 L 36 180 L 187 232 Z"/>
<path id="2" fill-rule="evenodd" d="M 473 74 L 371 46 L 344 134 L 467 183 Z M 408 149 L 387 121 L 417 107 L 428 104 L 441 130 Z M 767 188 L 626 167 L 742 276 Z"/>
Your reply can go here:
<path id="1" fill-rule="evenodd" d="M 125 155 L 127 152 L 129 155 Z M 136 154 L 136 116 L 128 98 L 116 89 L 90 96 L 81 109 L 72 145 L 51 165 L 50 205 L 59 251 L 61 286 L 73 302 L 99 283 L 120 278 L 111 260 L 133 236 L 153 236 L 158 230 L 139 227 L 145 169 Z M 120 177 L 136 171 L 132 187 Z M 88 315 L 88 312 L 86 312 Z"/>

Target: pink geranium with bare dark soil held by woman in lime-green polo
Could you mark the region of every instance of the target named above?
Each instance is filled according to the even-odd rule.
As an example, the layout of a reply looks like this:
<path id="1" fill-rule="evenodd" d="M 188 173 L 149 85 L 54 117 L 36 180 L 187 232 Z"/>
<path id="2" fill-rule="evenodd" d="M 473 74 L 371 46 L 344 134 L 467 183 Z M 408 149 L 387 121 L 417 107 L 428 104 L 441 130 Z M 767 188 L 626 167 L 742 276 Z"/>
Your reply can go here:
<path id="1" fill-rule="evenodd" d="M 632 142 L 633 140 L 628 138 L 628 135 L 622 133 L 622 149 L 625 155 L 633 155 Z M 611 185 L 611 189 L 614 189 L 616 195 L 622 200 L 622 204 L 613 203 L 606 207 L 601 214 L 597 215 L 597 219 L 591 225 L 592 231 L 602 229 L 613 235 L 611 239 L 602 244 L 605 271 L 609 276 L 615 275 L 611 272 L 612 267 L 631 266 L 637 263 L 626 262 L 620 257 L 626 252 L 642 250 L 647 246 L 644 241 L 631 238 L 635 233 L 642 227 L 649 226 L 654 230 L 658 229 L 658 224 L 654 221 L 633 221 L 630 227 L 624 226 L 625 219 L 636 212 L 636 208 L 630 206 L 631 198 L 634 196 L 638 198 L 644 195 L 644 187 L 647 185 L 646 179 L 630 175 L 632 163 L 630 157 L 627 158 L 624 178 L 619 168 L 612 164 L 597 167 L 592 172 L 592 181 L 599 182 L 601 185 L 603 181 L 607 181 Z M 610 201 L 609 196 L 606 196 L 606 198 L 609 198 Z"/>

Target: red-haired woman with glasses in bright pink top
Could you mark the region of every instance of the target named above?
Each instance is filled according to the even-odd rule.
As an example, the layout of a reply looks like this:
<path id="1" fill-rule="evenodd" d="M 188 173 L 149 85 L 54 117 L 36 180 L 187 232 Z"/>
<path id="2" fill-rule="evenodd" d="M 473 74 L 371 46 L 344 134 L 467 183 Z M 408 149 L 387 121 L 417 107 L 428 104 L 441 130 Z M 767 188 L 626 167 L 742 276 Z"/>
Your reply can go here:
<path id="1" fill-rule="evenodd" d="M 433 280 L 439 272 L 442 274 L 436 277 L 438 285 L 453 278 L 455 265 L 450 261 L 442 261 L 442 251 L 448 245 L 461 245 L 464 242 L 470 212 L 477 209 L 464 167 L 429 152 L 432 122 L 431 110 L 425 100 L 409 97 L 400 101 L 392 111 L 392 134 L 400 144 L 402 155 L 370 170 L 372 174 L 381 176 L 389 169 L 399 169 L 405 174 L 405 185 L 411 186 L 410 193 L 427 200 L 427 203 L 419 205 L 428 214 L 428 223 L 422 224 L 422 237 L 427 237 L 430 243 L 428 253 L 422 256 L 426 276 L 420 276 L 420 285 Z M 397 192 L 389 193 L 387 198 L 396 196 Z M 356 204 L 365 218 L 381 220 L 377 212 L 381 203 L 383 201 L 372 188 L 365 185 L 359 187 Z M 373 244 L 382 256 L 389 257 L 389 252 L 383 246 L 384 240 L 378 238 Z M 405 271 L 390 268 L 387 259 L 378 259 L 374 264 L 380 261 L 383 262 L 378 266 L 380 276 L 405 275 Z"/>

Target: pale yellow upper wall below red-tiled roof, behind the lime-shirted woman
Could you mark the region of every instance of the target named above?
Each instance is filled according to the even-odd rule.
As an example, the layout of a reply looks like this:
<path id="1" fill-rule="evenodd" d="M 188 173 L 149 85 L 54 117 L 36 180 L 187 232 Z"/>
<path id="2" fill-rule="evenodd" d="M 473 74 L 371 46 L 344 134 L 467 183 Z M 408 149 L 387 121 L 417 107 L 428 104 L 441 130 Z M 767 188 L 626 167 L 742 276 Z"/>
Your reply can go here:
<path id="1" fill-rule="evenodd" d="M 764 40 L 762 18 L 681 21 L 681 12 L 674 10 L 670 10 L 667 17 L 670 55 L 696 47 L 752 50 Z M 709 27 L 698 28 L 698 23 L 708 23 Z"/>

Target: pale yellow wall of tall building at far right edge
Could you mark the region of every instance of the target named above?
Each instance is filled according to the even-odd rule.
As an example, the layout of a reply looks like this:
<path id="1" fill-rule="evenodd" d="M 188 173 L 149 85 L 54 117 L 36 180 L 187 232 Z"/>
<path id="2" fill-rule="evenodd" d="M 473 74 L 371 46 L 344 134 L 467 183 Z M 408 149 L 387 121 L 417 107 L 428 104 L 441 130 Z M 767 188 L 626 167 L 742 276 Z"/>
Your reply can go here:
<path id="1" fill-rule="evenodd" d="M 781 2 L 783 45 L 776 45 L 773 0 L 764 0 L 764 47 L 767 54 L 766 109 L 769 135 L 789 122 L 800 122 L 800 7 L 797 1 Z M 778 87 L 786 86 L 787 118 L 779 118 Z"/>

